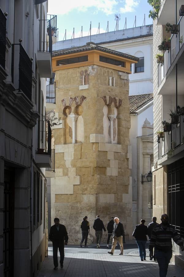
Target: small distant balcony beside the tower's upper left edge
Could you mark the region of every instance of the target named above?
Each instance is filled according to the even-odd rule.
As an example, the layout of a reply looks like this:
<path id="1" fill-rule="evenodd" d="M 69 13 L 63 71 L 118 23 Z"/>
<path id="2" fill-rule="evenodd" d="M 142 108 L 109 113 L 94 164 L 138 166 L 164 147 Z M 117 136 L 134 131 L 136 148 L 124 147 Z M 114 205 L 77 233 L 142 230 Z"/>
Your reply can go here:
<path id="1" fill-rule="evenodd" d="M 46 111 L 56 108 L 56 82 L 46 86 Z"/>

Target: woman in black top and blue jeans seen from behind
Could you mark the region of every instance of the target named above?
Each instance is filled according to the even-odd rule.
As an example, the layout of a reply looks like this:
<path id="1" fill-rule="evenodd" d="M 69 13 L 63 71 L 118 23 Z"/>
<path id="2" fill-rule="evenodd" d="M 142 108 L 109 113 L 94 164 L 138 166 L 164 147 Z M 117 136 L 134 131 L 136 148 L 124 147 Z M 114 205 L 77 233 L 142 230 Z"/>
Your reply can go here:
<path id="1" fill-rule="evenodd" d="M 136 228 L 132 234 L 132 236 L 136 239 L 141 261 L 146 261 L 146 235 L 148 234 L 148 227 L 145 226 L 144 223 L 145 219 L 141 219 L 140 224 L 136 225 Z"/>

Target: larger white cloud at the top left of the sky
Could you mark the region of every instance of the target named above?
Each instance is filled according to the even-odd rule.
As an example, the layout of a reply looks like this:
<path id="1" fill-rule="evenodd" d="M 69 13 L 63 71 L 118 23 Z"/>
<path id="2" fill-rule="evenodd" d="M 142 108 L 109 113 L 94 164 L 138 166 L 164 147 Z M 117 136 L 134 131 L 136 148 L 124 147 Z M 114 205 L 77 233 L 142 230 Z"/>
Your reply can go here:
<path id="1" fill-rule="evenodd" d="M 77 10 L 85 12 L 90 8 L 95 8 L 95 12 L 101 11 L 105 14 L 113 14 L 117 0 L 49 0 L 48 14 L 68 14 L 70 11 Z"/>

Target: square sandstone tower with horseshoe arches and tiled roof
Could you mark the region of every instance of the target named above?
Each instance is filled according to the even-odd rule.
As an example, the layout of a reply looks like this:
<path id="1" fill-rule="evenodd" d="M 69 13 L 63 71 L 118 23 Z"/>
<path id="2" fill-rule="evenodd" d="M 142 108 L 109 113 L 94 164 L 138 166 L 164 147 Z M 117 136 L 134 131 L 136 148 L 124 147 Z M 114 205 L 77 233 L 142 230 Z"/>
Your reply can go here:
<path id="1" fill-rule="evenodd" d="M 128 74 L 138 60 L 93 43 L 53 53 L 54 110 L 62 124 L 53 129 L 51 221 L 59 217 L 69 243 L 79 244 L 85 215 L 91 229 L 88 243 L 95 242 L 96 215 L 105 227 L 111 216 L 119 217 L 126 239 L 132 235 Z"/>

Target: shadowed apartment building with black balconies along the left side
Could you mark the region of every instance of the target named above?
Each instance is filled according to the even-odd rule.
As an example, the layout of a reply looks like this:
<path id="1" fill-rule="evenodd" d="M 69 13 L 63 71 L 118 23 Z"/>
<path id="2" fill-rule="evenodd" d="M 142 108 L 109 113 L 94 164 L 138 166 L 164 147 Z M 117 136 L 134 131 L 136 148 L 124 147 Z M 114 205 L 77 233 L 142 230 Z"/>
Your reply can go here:
<path id="1" fill-rule="evenodd" d="M 0 275 L 36 276 L 47 255 L 47 181 L 56 16 L 43 0 L 0 1 Z"/>

